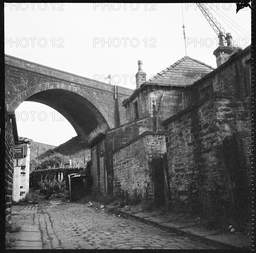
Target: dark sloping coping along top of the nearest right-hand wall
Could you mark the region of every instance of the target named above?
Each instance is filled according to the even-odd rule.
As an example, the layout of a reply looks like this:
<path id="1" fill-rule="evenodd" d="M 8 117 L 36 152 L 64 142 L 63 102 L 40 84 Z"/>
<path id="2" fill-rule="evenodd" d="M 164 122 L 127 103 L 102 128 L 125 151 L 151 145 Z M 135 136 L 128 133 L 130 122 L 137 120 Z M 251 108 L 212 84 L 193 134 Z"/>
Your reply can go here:
<path id="1" fill-rule="evenodd" d="M 216 98 L 227 98 L 227 99 L 233 99 L 233 97 L 226 92 L 214 92 L 212 95 L 208 95 L 205 98 L 202 98 L 199 102 L 192 104 L 191 106 L 179 111 L 177 114 L 171 116 L 170 118 L 168 118 L 167 120 L 163 121 L 161 123 L 162 126 L 166 126 L 168 123 L 176 120 L 177 118 L 179 118 L 181 115 L 192 111 L 193 109 L 201 106 L 202 104 L 205 104 L 206 102 L 208 102 L 209 100 L 214 100 Z"/>

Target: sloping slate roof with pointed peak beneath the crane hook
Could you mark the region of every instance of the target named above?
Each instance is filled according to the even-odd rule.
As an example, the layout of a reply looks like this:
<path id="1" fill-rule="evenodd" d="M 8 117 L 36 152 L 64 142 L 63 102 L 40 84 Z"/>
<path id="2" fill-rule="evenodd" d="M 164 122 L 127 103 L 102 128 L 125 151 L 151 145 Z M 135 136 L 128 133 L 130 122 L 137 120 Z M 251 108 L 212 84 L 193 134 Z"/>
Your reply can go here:
<path id="1" fill-rule="evenodd" d="M 188 86 L 213 70 L 212 66 L 185 56 L 157 73 L 146 81 L 144 85 Z"/>

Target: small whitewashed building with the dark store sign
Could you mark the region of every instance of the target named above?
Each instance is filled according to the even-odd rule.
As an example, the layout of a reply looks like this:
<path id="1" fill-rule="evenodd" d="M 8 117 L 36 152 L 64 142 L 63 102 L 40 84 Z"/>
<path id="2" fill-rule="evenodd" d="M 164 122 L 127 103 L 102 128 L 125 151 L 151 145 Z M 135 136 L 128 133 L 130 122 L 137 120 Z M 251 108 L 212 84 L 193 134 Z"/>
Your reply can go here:
<path id="1" fill-rule="evenodd" d="M 12 199 L 19 201 L 29 192 L 30 184 L 30 141 L 19 137 L 14 146 L 14 171 Z"/>

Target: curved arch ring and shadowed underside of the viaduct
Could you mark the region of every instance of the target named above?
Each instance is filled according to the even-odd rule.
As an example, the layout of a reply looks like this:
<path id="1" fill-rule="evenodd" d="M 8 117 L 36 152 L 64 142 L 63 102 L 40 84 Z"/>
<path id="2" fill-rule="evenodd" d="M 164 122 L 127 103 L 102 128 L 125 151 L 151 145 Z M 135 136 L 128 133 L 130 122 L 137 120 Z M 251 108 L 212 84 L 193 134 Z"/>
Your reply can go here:
<path id="1" fill-rule="evenodd" d="M 81 140 L 102 123 L 107 123 L 109 128 L 114 127 L 100 103 L 77 86 L 59 82 L 32 86 L 18 95 L 7 110 L 14 112 L 24 101 L 46 104 L 60 112 L 71 123 Z"/>

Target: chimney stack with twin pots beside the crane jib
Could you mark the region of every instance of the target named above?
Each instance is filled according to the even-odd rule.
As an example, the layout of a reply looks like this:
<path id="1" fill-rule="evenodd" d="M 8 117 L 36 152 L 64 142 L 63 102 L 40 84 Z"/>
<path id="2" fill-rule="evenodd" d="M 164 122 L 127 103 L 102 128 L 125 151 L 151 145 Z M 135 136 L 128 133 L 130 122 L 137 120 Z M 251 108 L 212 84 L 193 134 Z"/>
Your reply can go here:
<path id="1" fill-rule="evenodd" d="M 220 32 L 218 37 L 219 37 L 220 46 L 217 47 L 213 52 L 213 54 L 216 57 L 217 67 L 225 63 L 232 54 L 238 52 L 239 50 L 242 50 L 241 47 L 232 45 L 231 33 L 226 33 L 226 37 L 225 37 L 225 34 L 223 32 Z M 226 45 L 226 42 L 227 42 L 227 45 Z"/>

